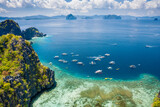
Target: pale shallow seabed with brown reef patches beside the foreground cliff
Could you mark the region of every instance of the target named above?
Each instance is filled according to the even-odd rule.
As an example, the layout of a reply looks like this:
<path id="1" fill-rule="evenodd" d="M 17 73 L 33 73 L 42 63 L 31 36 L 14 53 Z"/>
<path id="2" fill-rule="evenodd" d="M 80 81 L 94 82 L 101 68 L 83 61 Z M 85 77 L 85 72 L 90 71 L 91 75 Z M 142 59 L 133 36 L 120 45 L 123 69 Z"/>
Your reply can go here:
<path id="1" fill-rule="evenodd" d="M 55 71 L 57 86 L 37 95 L 32 107 L 151 107 L 160 89 L 160 81 L 147 74 L 130 81 L 95 80 L 50 68 Z"/>

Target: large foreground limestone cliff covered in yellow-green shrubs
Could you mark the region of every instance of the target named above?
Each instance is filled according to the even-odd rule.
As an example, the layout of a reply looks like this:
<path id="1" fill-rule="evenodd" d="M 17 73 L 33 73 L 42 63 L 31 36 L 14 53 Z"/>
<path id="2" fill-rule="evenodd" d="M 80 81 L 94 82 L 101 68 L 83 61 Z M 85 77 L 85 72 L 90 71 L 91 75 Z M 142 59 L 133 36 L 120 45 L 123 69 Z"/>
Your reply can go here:
<path id="1" fill-rule="evenodd" d="M 0 37 L 0 107 L 29 106 L 31 97 L 55 85 L 30 42 L 13 34 Z"/>

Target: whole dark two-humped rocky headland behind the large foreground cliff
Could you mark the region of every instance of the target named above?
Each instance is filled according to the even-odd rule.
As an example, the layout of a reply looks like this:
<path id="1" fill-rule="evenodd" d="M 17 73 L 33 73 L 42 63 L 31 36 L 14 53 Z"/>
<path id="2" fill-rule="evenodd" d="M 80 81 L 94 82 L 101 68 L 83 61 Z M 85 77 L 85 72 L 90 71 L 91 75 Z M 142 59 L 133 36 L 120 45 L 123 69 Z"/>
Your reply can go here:
<path id="1" fill-rule="evenodd" d="M 30 27 L 21 32 L 18 23 L 13 20 L 5 20 L 0 23 L 0 36 L 6 34 L 21 35 L 26 40 L 30 40 L 32 37 L 46 36 L 46 34 L 39 32 L 39 30 L 35 27 Z"/>

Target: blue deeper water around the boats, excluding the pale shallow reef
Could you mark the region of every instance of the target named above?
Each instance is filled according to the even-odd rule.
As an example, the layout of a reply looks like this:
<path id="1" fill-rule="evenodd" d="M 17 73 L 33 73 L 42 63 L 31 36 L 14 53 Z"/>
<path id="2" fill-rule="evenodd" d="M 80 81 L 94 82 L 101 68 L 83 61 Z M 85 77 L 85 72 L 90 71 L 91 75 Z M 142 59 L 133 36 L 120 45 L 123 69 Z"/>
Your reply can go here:
<path id="1" fill-rule="evenodd" d="M 160 21 L 151 20 L 20 20 L 17 21 L 22 29 L 30 26 L 37 27 L 48 37 L 36 39 L 33 48 L 41 61 L 52 62 L 54 65 L 75 76 L 91 78 L 136 79 L 140 74 L 147 73 L 160 78 Z M 117 44 L 114 46 L 112 44 Z M 152 48 L 145 48 L 152 45 Z M 68 53 L 62 56 L 61 53 Z M 72 57 L 71 52 L 79 54 Z M 111 56 L 90 65 L 89 56 Z M 54 59 L 59 55 L 69 61 L 63 64 Z M 78 59 L 85 65 L 71 62 Z M 115 65 L 109 65 L 109 61 Z M 129 65 L 141 64 L 136 69 Z M 113 70 L 107 67 L 112 66 Z M 116 71 L 116 68 L 120 68 Z M 95 74 L 103 70 L 102 74 Z"/>

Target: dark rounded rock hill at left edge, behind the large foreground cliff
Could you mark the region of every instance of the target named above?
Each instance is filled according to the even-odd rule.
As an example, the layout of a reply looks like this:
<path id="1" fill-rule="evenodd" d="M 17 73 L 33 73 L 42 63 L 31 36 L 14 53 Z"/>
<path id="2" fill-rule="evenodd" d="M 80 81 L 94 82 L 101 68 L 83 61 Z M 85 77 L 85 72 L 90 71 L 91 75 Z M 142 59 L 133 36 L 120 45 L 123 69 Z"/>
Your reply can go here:
<path id="1" fill-rule="evenodd" d="M 5 34 L 15 34 L 15 35 L 21 35 L 21 29 L 13 20 L 5 20 L 0 23 L 0 36 Z"/>

